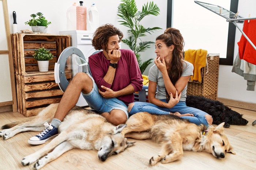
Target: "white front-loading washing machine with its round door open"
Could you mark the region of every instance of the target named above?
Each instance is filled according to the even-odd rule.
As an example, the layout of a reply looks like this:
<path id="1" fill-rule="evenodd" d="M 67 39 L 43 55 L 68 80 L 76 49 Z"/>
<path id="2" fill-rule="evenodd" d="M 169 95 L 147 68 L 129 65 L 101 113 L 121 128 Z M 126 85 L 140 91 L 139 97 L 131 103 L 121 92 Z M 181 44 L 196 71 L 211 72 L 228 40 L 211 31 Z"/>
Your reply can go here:
<path id="1" fill-rule="evenodd" d="M 69 84 L 68 80 L 72 79 L 76 73 L 85 72 L 91 76 L 88 58 L 99 51 L 92 46 L 93 32 L 91 31 L 60 31 L 60 34 L 70 35 L 72 46 L 66 48 L 60 54 L 54 67 L 55 82 L 59 84 L 60 89 L 64 92 Z M 76 106 L 88 106 L 82 94 L 80 94 Z"/>

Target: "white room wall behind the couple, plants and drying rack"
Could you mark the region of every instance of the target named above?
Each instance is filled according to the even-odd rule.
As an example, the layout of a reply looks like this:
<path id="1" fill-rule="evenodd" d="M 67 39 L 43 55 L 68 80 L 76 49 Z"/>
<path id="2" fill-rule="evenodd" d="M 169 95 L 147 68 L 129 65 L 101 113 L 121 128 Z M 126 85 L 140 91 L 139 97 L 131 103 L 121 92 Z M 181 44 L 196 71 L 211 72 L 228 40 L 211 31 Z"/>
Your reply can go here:
<path id="1" fill-rule="evenodd" d="M 150 0 L 136 0 L 138 9 L 141 10 L 142 5 L 148 1 Z M 7 0 L 11 32 L 11 24 L 13 23 L 13 11 L 16 11 L 17 13 L 18 30 L 31 30 L 30 26 L 25 25 L 24 23 L 30 19 L 30 14 L 42 12 L 44 13 L 46 19 L 52 22 L 52 24 L 50 24 L 48 27 L 48 33 L 58 34 L 59 31 L 65 31 L 67 22 L 66 11 L 73 2 L 74 0 Z M 79 3 L 79 1 L 75 2 Z M 142 20 L 142 24 L 145 27 L 160 27 L 163 29 L 161 31 L 153 33 L 152 35 L 148 35 L 143 40 L 155 41 L 155 37 L 157 35 L 160 35 L 166 28 L 167 0 L 154 0 L 154 2 L 159 6 L 161 14 L 157 17 L 146 16 L 144 20 Z M 84 1 L 84 6 L 89 8 L 92 3 L 95 3 L 97 5 L 100 17 L 100 25 L 111 23 L 116 27 L 120 28 L 124 35 L 127 36 L 126 27 L 120 25 L 117 19 L 117 7 L 120 3 L 120 0 L 86 0 Z M 255 17 L 255 6 L 255 0 L 239 0 L 239 15 L 247 17 L 249 13 L 251 13 L 251 16 Z M 208 12 L 210 11 L 205 10 L 204 15 L 208 15 Z M 240 24 L 240 26 L 242 26 L 242 24 Z M 211 35 L 209 35 L 209 38 L 210 36 Z M 241 33 L 237 29 L 234 57 L 238 52 L 237 42 L 239 41 L 240 37 Z M 127 46 L 122 44 L 122 48 L 127 48 Z M 151 49 L 144 52 L 144 54 L 142 54 L 143 59 L 146 60 L 149 58 L 154 58 L 154 49 L 155 47 L 153 45 Z M 153 64 L 151 64 L 150 66 L 152 65 Z M 145 71 L 145 74 L 148 72 L 148 68 Z M 219 68 L 218 97 L 256 103 L 256 91 L 246 91 L 246 80 L 244 80 L 243 77 L 232 73 L 231 70 L 232 66 L 221 65 Z"/>

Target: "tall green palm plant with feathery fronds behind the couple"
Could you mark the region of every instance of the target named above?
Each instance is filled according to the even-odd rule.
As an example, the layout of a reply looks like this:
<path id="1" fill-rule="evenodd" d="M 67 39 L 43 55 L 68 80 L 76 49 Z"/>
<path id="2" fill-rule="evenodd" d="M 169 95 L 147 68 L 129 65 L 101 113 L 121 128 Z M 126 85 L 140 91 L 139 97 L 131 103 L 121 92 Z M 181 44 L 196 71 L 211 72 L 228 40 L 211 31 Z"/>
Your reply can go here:
<path id="1" fill-rule="evenodd" d="M 118 5 L 118 16 L 119 19 L 122 19 L 122 25 L 128 27 L 128 38 L 123 39 L 123 42 L 131 48 L 135 53 L 136 58 L 139 63 L 140 72 L 143 73 L 147 66 L 152 63 L 152 58 L 144 62 L 140 59 L 140 52 L 145 51 L 147 48 L 150 48 L 150 44 L 155 44 L 153 41 L 142 41 L 140 37 L 147 36 L 147 33 L 152 33 L 161 28 L 145 28 L 140 21 L 147 15 L 159 15 L 160 9 L 157 4 L 153 2 L 144 4 L 142 11 L 138 11 L 135 0 L 121 0 L 121 3 Z"/>

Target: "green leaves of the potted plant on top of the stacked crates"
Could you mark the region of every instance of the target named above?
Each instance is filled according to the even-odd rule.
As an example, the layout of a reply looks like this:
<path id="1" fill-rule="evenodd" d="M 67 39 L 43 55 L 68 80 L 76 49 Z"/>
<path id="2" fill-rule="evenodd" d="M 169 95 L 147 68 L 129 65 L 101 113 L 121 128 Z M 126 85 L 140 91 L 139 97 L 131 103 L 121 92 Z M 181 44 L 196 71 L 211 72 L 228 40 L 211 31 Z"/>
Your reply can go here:
<path id="1" fill-rule="evenodd" d="M 29 26 L 44 26 L 48 27 L 49 24 L 51 24 L 50 21 L 46 20 L 45 17 L 41 12 L 37 12 L 37 14 L 31 14 L 32 17 L 31 20 L 25 22 L 25 24 L 28 24 Z M 36 18 L 38 16 L 38 18 Z"/>

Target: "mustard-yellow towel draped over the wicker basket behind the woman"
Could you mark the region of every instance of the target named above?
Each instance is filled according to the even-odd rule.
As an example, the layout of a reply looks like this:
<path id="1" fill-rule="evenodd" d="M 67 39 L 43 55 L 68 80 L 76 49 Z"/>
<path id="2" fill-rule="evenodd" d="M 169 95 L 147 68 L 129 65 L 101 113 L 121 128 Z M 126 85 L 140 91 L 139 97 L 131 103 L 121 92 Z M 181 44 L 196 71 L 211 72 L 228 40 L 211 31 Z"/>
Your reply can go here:
<path id="1" fill-rule="evenodd" d="M 191 76 L 191 80 L 195 80 L 198 82 L 202 81 L 201 77 L 201 68 L 206 66 L 206 56 L 207 56 L 207 50 L 187 50 L 185 51 L 184 60 L 188 61 L 189 63 L 192 63 L 194 66 L 193 70 L 193 76 Z"/>

